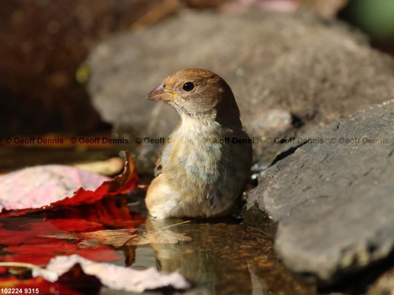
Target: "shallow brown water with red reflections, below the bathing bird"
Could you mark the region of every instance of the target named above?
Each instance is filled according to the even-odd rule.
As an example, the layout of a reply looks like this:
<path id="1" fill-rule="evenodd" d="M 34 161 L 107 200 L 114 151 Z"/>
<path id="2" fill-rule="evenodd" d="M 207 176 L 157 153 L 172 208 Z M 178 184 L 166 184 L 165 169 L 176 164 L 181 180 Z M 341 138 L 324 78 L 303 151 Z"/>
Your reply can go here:
<path id="1" fill-rule="evenodd" d="M 144 194 L 139 191 L 89 206 L 0 219 L 0 261 L 44 266 L 53 256 L 76 253 L 135 269 L 180 271 L 193 283 L 183 294 L 317 293 L 316 287 L 295 280 L 273 251 L 272 240 L 249 230 L 241 218 L 156 220 L 147 217 Z M 86 235 L 108 229 L 137 229 L 133 233 L 137 236 L 123 243 L 121 236 L 111 240 Z M 19 279 L 29 278 L 26 269 L 17 272 Z M 0 285 L 12 278 L 15 270 L 13 274 L 4 268 L 0 271 Z M 24 282 L 37 287 L 37 281 Z M 171 292 L 145 292 L 162 293 Z M 102 287 L 99 294 L 133 293 Z"/>

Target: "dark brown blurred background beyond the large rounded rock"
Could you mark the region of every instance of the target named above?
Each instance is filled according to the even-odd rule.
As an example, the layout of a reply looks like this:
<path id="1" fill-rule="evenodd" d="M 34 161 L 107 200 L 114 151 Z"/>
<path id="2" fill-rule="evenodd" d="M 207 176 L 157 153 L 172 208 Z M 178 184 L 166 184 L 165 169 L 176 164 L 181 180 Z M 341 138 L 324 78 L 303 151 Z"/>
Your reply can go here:
<path id="1" fill-rule="evenodd" d="M 339 17 L 394 54 L 391 0 L 9 0 L 0 2 L 0 136 L 110 130 L 90 103 L 89 51 L 109 34 L 139 30 L 192 9 L 309 9 Z"/>

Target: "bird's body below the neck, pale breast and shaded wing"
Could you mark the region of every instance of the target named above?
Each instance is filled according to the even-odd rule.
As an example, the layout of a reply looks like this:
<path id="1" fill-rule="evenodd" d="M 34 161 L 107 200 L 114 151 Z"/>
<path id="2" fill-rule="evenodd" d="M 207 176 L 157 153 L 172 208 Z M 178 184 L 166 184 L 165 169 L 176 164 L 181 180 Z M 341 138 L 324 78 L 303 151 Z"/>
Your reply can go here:
<path id="1" fill-rule="evenodd" d="M 148 189 L 147 208 L 157 218 L 225 215 L 244 188 L 251 164 L 251 145 L 245 149 L 221 143 L 221 139 L 234 135 L 232 131 L 202 137 L 218 133 L 209 129 L 198 132 L 191 125 L 187 128 L 175 130 L 172 141 L 163 150 L 162 174 Z M 190 137 L 191 134 L 194 136 Z M 246 135 L 243 131 L 238 134 Z"/>

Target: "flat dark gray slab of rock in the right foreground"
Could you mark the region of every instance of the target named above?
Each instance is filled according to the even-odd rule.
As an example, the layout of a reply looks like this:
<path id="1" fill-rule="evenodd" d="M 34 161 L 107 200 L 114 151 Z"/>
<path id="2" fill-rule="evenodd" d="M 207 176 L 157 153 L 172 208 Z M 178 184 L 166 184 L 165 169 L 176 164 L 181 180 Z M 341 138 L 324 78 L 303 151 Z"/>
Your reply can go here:
<path id="1" fill-rule="evenodd" d="M 310 137 L 269 167 L 249 196 L 278 223 L 275 249 L 292 270 L 336 279 L 394 250 L 394 100 Z M 250 219 L 250 218 L 249 218 Z"/>

